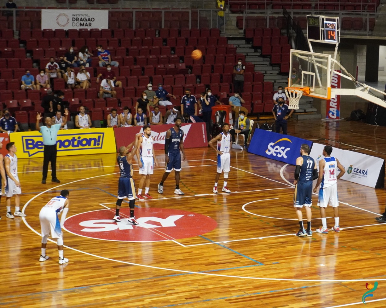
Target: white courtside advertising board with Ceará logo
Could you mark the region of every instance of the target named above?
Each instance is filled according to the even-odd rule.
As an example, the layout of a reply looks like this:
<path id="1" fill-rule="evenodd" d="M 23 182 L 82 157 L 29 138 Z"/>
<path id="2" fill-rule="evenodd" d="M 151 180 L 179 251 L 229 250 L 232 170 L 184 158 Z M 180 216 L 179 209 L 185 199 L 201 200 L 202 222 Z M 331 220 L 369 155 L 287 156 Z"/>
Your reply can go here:
<path id="1" fill-rule="evenodd" d="M 317 166 L 319 166 L 320 159 L 323 159 L 322 155 L 325 144 L 313 143 L 310 156 L 315 159 Z M 378 177 L 382 172 L 384 160 L 379 157 L 374 157 L 362 153 L 357 153 L 348 150 L 332 148 L 331 156 L 336 157 L 345 169 L 342 180 L 354 182 L 369 187 L 376 187 Z M 384 177 L 384 176 L 383 176 Z M 381 186 L 383 187 L 384 178 L 380 179 Z"/>

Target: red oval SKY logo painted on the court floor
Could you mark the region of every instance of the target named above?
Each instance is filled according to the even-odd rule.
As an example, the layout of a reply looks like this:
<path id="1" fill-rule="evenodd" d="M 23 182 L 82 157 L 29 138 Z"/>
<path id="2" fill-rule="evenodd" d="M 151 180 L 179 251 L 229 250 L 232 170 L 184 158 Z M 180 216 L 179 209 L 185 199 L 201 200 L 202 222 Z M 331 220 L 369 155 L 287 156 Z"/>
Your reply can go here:
<path id="1" fill-rule="evenodd" d="M 64 223 L 67 231 L 88 238 L 107 241 L 166 241 L 192 238 L 208 233 L 217 227 L 214 219 L 193 212 L 177 209 L 136 208 L 139 223 L 127 221 L 130 209 L 119 212 L 121 222 L 113 221 L 115 209 L 101 209 L 69 217 Z"/>

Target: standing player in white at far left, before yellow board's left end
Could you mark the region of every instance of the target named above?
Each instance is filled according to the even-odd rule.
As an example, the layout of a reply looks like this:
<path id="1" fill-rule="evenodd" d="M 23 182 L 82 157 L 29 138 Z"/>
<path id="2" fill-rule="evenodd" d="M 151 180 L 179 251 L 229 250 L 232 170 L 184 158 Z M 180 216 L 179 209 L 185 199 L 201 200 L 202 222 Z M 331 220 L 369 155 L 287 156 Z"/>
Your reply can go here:
<path id="1" fill-rule="evenodd" d="M 7 218 L 15 218 L 15 216 L 25 217 L 24 213 L 20 212 L 20 189 L 19 177 L 17 176 L 17 157 L 15 142 L 7 143 L 8 154 L 4 157 L 5 172 L 7 174 L 8 185 L 6 188 L 5 200 L 7 204 Z M 15 196 L 15 213 L 11 213 L 11 198 Z"/>

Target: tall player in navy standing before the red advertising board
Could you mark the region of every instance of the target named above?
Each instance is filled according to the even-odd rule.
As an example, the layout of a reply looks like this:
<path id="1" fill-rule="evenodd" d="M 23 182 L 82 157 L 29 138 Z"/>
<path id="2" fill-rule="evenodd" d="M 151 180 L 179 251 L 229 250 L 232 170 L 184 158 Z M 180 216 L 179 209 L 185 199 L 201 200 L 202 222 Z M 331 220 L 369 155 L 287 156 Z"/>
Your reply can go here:
<path id="1" fill-rule="evenodd" d="M 158 193 L 163 194 L 164 193 L 164 181 L 168 177 L 169 173 L 174 169 L 175 173 L 175 179 L 176 179 L 176 189 L 174 190 L 175 194 L 178 194 L 180 196 L 185 195 L 181 189 L 179 189 L 179 172 L 181 171 L 181 153 L 180 149 L 183 155 L 183 160 L 186 160 L 185 157 L 185 151 L 184 151 L 184 144 L 183 144 L 183 137 L 184 132 L 181 127 L 181 118 L 176 117 L 174 119 L 174 127 L 171 129 L 168 129 L 166 132 L 166 139 L 165 139 L 165 162 L 166 162 L 166 169 L 165 173 L 162 176 L 161 182 L 158 184 Z"/>

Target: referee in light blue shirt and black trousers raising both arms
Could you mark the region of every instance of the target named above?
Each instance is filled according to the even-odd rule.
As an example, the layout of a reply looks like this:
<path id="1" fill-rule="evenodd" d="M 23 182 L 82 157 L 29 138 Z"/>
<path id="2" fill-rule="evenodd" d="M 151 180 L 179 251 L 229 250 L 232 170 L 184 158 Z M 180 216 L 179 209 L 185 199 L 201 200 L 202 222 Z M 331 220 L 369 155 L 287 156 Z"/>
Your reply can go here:
<path id="1" fill-rule="evenodd" d="M 43 178 L 42 184 L 46 184 L 47 173 L 48 173 L 48 163 L 51 162 L 52 170 L 52 182 L 60 183 L 56 177 L 56 139 L 58 137 L 58 131 L 61 127 L 64 127 L 67 123 L 68 110 L 65 109 L 64 120 L 61 124 L 52 124 L 52 119 L 46 117 L 44 122 L 46 126 L 39 127 L 39 121 L 43 118 L 40 113 L 36 115 L 36 130 L 40 131 L 43 137 L 44 144 L 44 159 L 43 159 Z"/>

